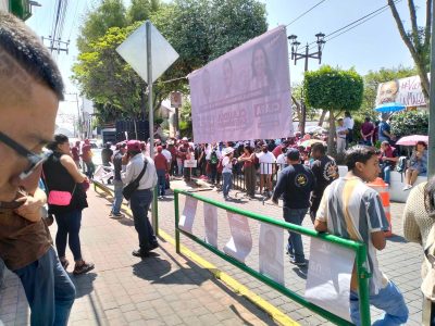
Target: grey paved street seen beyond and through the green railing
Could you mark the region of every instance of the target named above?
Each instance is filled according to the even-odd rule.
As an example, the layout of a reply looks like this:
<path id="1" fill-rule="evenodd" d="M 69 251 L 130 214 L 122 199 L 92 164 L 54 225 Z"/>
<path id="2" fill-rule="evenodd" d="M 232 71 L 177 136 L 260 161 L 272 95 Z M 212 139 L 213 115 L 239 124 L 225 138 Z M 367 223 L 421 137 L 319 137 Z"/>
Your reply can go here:
<path id="1" fill-rule="evenodd" d="M 216 190 L 201 191 L 198 195 L 212 198 L 215 200 L 223 201 L 222 193 Z M 282 209 L 265 203 L 262 201 L 248 200 L 243 198 L 243 193 L 236 193 L 232 191 L 231 196 L 236 200 L 229 202 L 229 204 L 243 208 L 245 210 L 254 211 L 271 217 L 282 218 Z M 181 197 L 181 212 L 184 206 L 184 198 Z M 227 202 L 228 203 L 228 202 Z M 159 201 L 159 223 L 160 227 L 165 231 L 174 235 L 174 214 L 173 198 L 169 196 L 165 200 Z M 421 249 L 415 243 L 408 243 L 402 238 L 401 228 L 401 213 L 405 204 L 391 203 L 391 220 L 393 220 L 393 233 L 394 237 L 388 239 L 386 249 L 378 253 L 378 260 L 382 271 L 393 279 L 405 294 L 408 308 L 410 310 L 410 319 L 407 325 L 420 325 L 421 324 L 421 291 L 420 291 L 420 266 L 421 266 Z M 202 222 L 202 204 L 198 204 L 197 218 L 194 224 L 194 234 L 203 237 L 203 222 Z M 229 239 L 229 229 L 226 220 L 226 213 L 223 210 L 219 210 L 219 248 L 222 250 L 223 246 Z M 311 220 L 307 216 L 303 222 L 303 226 L 312 228 Z M 253 239 L 253 250 L 249 254 L 246 263 L 248 266 L 258 271 L 258 241 L 259 241 L 259 224 L 256 221 L 250 221 L 250 229 Z M 228 273 L 235 279 L 241 284 L 248 286 L 256 293 L 260 294 L 264 299 L 269 300 L 284 313 L 289 315 L 293 319 L 298 321 L 302 325 L 323 325 L 328 324 L 325 319 L 319 317 L 310 310 L 302 308 L 301 305 L 287 299 L 276 290 L 258 281 L 253 277 L 248 276 L 239 268 L 234 267 L 229 263 L 226 263 L 222 259 L 219 259 L 213 253 L 209 252 L 204 248 L 200 247 L 196 242 L 189 240 L 187 237 L 182 236 L 182 242 L 190 248 L 194 252 L 199 253 L 213 264 L 215 264 L 222 271 Z M 309 259 L 309 243 L 310 239 L 303 237 L 304 252 Z M 257 246 L 256 246 L 257 243 Z M 287 288 L 296 290 L 298 293 L 303 296 L 307 269 L 300 269 L 295 267 L 285 259 L 285 283 Z M 380 315 L 380 312 L 372 310 L 372 321 Z"/>

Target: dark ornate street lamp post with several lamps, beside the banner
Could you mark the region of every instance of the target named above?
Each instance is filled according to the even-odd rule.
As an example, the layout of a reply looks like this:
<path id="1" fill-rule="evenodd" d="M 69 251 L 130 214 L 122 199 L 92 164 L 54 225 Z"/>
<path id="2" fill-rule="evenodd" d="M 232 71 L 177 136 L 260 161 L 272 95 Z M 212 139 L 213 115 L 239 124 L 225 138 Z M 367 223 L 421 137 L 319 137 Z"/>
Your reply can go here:
<path id="1" fill-rule="evenodd" d="M 298 42 L 296 39 L 298 38 L 296 35 L 290 35 L 287 38 L 289 39 L 289 41 L 291 42 L 291 60 L 295 61 L 295 65 L 296 62 L 299 59 L 304 59 L 304 72 L 308 72 L 308 59 L 318 59 L 319 60 L 319 64 L 322 63 L 322 50 L 323 47 L 325 45 L 325 35 L 323 33 L 318 33 L 315 35 L 315 37 L 318 38 L 318 40 L 315 41 L 318 43 L 318 51 L 316 52 L 312 52 L 310 53 L 310 45 L 307 43 L 306 46 L 306 52 L 304 53 L 299 53 L 298 52 L 298 47 L 300 46 L 300 42 Z M 306 103 L 303 101 L 303 93 L 302 93 L 302 99 L 300 101 L 300 109 L 301 109 L 301 115 L 302 115 L 302 121 L 300 121 L 300 131 L 302 134 L 302 136 L 306 134 L 306 121 L 307 121 L 307 108 L 306 108 Z"/>

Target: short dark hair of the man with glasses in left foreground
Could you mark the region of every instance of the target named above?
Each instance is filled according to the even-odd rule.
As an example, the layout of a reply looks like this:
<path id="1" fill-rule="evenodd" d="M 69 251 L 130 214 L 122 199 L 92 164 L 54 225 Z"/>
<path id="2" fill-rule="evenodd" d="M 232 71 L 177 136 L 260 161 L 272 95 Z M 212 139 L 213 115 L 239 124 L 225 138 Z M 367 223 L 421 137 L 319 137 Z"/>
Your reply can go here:
<path id="1" fill-rule="evenodd" d="M 7 55 L 2 54 L 3 51 Z M 59 100 L 63 100 L 62 76 L 48 49 L 22 21 L 2 11 L 0 11 L 0 57 L 5 58 L 3 61 L 10 57 L 35 80 L 48 86 Z"/>

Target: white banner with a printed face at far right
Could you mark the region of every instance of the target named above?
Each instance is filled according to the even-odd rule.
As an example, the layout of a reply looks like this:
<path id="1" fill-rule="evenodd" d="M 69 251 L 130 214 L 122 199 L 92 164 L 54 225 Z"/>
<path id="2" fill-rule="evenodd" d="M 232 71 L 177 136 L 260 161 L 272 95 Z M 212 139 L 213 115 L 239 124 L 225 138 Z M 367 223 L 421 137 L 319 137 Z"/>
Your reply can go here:
<path id="1" fill-rule="evenodd" d="M 377 87 L 376 106 L 389 102 L 399 102 L 406 106 L 426 105 L 421 88 L 420 76 L 400 78 L 380 84 Z"/>

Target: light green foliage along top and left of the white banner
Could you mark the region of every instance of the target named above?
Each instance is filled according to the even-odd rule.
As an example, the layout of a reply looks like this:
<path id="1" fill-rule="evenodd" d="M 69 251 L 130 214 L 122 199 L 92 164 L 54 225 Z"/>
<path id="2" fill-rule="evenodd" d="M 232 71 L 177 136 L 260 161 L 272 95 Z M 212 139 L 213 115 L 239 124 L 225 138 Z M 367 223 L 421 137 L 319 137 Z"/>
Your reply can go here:
<path id="1" fill-rule="evenodd" d="M 361 118 L 370 116 L 372 120 L 375 120 L 378 115 L 378 113 L 373 110 L 377 95 L 377 86 L 381 83 L 411 77 L 417 74 L 418 73 L 415 68 L 403 67 L 401 65 L 393 68 L 383 67 L 376 72 L 370 71 L 364 76 L 364 93 L 362 98 L 362 104 L 361 109 L 356 112 L 356 115 Z"/>

